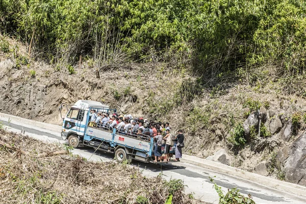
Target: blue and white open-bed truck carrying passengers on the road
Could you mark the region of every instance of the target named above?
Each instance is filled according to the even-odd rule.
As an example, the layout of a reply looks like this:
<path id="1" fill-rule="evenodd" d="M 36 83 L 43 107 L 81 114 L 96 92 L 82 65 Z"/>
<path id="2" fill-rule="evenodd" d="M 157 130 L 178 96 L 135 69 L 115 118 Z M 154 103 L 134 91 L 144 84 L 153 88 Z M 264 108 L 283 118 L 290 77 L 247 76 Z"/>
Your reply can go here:
<path id="1" fill-rule="evenodd" d="M 60 107 L 60 111 L 62 106 Z M 149 135 L 120 134 L 108 125 L 90 121 L 90 111 L 115 113 L 115 109 L 101 104 L 98 101 L 78 100 L 68 110 L 63 119 L 62 137 L 68 140 L 73 148 L 89 146 L 95 149 L 115 153 L 117 162 L 154 161 L 154 138 Z M 170 156 L 174 155 L 176 140 L 172 137 L 173 146 L 170 147 Z M 164 153 L 165 144 L 162 144 Z M 174 161 L 170 161 L 174 162 Z M 166 163 L 166 162 L 165 162 Z"/>

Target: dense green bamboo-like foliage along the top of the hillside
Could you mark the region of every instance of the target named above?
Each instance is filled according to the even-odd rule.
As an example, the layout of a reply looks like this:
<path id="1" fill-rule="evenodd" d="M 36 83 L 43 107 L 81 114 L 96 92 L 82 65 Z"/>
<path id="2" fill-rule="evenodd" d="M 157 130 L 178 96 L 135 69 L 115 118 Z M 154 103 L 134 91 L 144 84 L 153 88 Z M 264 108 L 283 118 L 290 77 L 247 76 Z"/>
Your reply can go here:
<path id="1" fill-rule="evenodd" d="M 299 0 L 0 0 L 0 29 L 52 63 L 190 59 L 220 77 L 268 62 L 300 74 L 305 13 Z"/>

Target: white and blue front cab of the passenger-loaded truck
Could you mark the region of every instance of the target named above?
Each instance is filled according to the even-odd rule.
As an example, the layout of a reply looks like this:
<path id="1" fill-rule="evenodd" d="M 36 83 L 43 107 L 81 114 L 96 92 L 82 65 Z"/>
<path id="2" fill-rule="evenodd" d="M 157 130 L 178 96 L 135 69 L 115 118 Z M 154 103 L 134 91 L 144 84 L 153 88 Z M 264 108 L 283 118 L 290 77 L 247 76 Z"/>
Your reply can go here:
<path id="1" fill-rule="evenodd" d="M 74 148 L 82 146 L 90 109 L 94 109 L 96 112 L 116 112 L 115 109 L 109 109 L 109 106 L 98 101 L 78 100 L 71 106 L 66 117 L 63 119 L 62 126 L 62 137 L 66 138 Z"/>

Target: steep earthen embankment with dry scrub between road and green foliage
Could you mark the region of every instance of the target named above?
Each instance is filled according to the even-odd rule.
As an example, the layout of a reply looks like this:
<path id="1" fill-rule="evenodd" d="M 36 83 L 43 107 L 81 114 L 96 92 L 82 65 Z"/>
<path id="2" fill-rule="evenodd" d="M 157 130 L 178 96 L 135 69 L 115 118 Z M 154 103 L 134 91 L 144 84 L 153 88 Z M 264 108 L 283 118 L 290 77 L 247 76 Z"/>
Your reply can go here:
<path id="1" fill-rule="evenodd" d="M 97 100 L 123 114 L 168 121 L 173 131 L 183 129 L 186 154 L 211 156 L 208 159 L 305 184 L 302 165 L 289 165 L 304 164 L 305 152 L 298 148 L 301 153 L 295 157 L 289 145 L 304 129 L 306 100 L 288 94 L 282 80 L 263 77 L 264 81 L 248 84 L 237 79 L 208 86 L 189 69 L 163 63 L 113 65 L 98 73 L 85 61 L 74 67 L 76 73 L 68 74 L 24 57 L 22 49 L 12 56 L 0 59 L 1 112 L 60 124 L 61 103 Z M 251 114 L 258 107 L 260 136 L 259 115 Z M 285 156 L 284 150 L 278 151 L 283 147 Z M 298 178 L 292 178 L 296 168 Z"/>

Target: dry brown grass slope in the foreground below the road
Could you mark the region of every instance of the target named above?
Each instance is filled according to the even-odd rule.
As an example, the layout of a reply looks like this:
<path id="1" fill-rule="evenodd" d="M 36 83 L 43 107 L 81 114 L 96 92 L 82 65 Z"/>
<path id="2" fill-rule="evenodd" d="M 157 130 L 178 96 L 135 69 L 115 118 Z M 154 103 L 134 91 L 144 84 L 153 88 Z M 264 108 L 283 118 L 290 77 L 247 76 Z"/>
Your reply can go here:
<path id="1" fill-rule="evenodd" d="M 172 180 L 176 185 L 170 187 L 160 176 L 148 179 L 129 165 L 59 155 L 39 158 L 65 147 L 4 130 L 0 142 L 14 147 L 0 145 L 0 203 L 165 203 L 174 189 L 173 203 L 199 203 L 184 194 L 180 181 Z"/>

